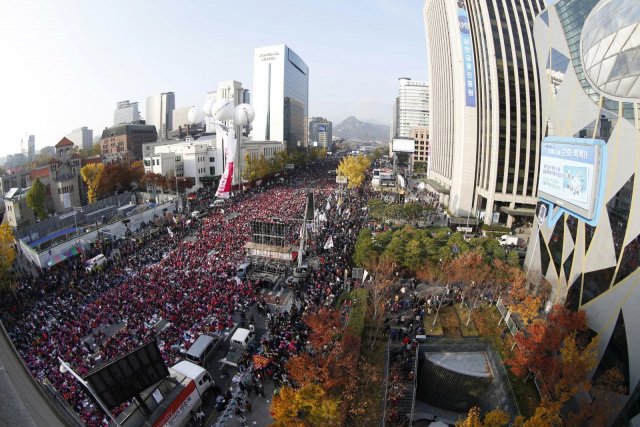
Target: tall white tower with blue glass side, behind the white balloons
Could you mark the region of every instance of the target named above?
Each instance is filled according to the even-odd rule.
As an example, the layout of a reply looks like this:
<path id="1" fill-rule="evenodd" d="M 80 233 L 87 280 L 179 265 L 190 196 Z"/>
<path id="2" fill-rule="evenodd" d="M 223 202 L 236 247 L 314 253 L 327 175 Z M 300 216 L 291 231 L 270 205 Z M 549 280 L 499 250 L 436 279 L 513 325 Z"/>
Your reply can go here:
<path id="1" fill-rule="evenodd" d="M 307 146 L 309 67 L 284 44 L 259 47 L 253 63 L 253 139 Z"/>

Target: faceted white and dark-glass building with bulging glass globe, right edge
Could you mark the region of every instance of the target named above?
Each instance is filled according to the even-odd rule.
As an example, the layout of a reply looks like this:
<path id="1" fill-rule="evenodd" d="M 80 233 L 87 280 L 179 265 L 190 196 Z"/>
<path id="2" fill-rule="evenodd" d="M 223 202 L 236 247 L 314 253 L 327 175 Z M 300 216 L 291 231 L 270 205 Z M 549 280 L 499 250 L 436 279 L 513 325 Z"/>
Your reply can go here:
<path id="1" fill-rule="evenodd" d="M 544 131 L 602 141 L 602 202 L 593 219 L 541 201 L 525 265 L 552 284 L 552 302 L 587 313 L 599 336 L 594 387 L 615 403 L 613 425 L 640 421 L 640 3 L 559 0 L 534 38 Z M 634 59 L 635 58 L 635 59 Z M 621 381 L 600 381 L 615 368 Z M 617 404 L 621 403 L 620 406 Z M 635 423 L 631 420 L 635 417 Z"/>

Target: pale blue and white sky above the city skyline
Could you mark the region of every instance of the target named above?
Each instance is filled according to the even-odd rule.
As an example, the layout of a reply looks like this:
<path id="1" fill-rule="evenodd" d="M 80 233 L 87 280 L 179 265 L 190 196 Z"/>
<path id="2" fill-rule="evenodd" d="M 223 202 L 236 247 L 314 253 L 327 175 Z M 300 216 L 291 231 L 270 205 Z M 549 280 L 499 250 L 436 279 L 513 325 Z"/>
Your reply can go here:
<path id="1" fill-rule="evenodd" d="M 0 156 L 116 102 L 172 91 L 202 106 L 218 82 L 253 85 L 253 51 L 284 43 L 309 66 L 309 116 L 390 124 L 398 77 L 428 80 L 422 0 L 0 0 Z"/>

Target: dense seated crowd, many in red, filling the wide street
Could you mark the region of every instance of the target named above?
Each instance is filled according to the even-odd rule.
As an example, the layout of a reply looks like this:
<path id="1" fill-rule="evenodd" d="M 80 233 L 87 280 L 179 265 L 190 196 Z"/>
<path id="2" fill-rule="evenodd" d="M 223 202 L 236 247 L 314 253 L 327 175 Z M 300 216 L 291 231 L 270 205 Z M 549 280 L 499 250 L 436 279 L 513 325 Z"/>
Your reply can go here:
<path id="1" fill-rule="evenodd" d="M 233 315 L 257 300 L 257 284 L 234 277 L 244 259 L 250 221 L 302 217 L 310 183 L 296 179 L 288 184 L 238 194 L 201 221 L 187 214 L 159 218 L 157 236 L 97 242 L 82 258 L 36 278 L 23 277 L 16 294 L 2 302 L 3 323 L 34 376 L 50 382 L 88 425 L 106 422 L 81 386 L 60 372 L 58 358 L 85 375 L 157 336 L 162 355 L 171 365 L 198 334 L 230 327 Z M 327 182 L 316 187 L 319 194 L 330 189 Z M 211 192 L 201 192 L 191 201 L 192 209 L 208 207 L 212 201 Z M 347 230 L 345 225 L 343 231 Z M 335 230 L 320 234 L 314 250 L 321 248 L 331 231 Z M 185 239 L 190 235 L 195 238 Z M 337 238 L 344 245 L 354 239 Z M 111 257 L 104 272 L 87 272 L 83 259 L 101 252 L 117 256 Z M 335 296 L 336 277 L 345 265 L 344 254 L 324 260 L 310 276 L 310 288 L 300 288 L 301 311 Z M 304 334 L 296 329 L 299 319 L 295 311 L 274 314 L 264 351 L 277 350 L 284 359 L 285 353 L 301 348 Z M 160 331 L 160 320 L 170 322 L 169 327 Z M 281 368 L 278 358 L 273 360 L 272 376 Z"/>

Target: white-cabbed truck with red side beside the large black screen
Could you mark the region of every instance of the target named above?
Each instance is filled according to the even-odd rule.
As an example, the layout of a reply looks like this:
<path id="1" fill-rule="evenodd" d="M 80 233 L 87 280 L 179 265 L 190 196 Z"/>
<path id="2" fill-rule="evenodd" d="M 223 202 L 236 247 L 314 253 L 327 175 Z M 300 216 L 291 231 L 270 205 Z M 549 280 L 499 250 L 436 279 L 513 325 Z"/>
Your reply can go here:
<path id="1" fill-rule="evenodd" d="M 213 387 L 206 369 L 182 361 L 169 368 L 169 376 L 141 393 L 145 411 L 131 404 L 117 418 L 123 427 L 184 427 Z"/>

